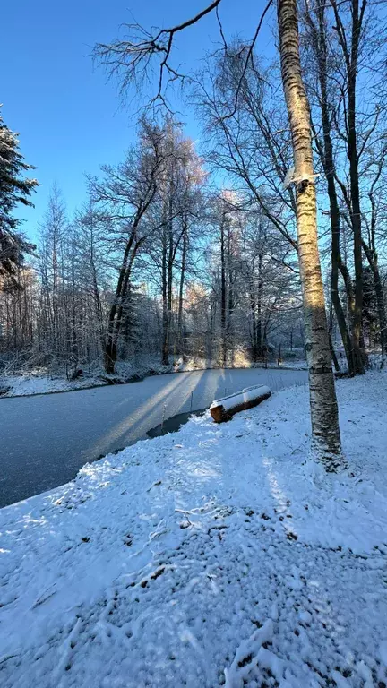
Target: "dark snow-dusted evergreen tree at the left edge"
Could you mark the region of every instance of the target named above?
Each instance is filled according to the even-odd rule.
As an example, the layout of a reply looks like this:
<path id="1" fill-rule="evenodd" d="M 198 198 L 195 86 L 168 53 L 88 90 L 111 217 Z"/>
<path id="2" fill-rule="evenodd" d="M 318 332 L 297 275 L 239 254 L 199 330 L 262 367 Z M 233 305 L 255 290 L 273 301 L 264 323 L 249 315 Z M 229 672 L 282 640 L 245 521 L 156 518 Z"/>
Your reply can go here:
<path id="1" fill-rule="evenodd" d="M 23 177 L 29 169 L 34 168 L 24 161 L 17 135 L 4 125 L 0 113 L 0 287 L 19 286 L 23 254 L 34 248 L 18 231 L 21 220 L 13 217 L 18 203 L 33 205 L 29 196 L 38 181 Z"/>

